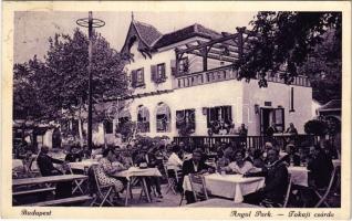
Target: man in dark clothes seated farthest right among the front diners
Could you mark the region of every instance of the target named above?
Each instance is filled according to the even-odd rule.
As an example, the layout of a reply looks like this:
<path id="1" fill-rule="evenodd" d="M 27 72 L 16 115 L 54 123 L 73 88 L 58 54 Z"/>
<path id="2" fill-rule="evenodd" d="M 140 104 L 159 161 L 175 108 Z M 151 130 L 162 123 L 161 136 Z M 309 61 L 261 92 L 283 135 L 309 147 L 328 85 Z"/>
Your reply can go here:
<path id="1" fill-rule="evenodd" d="M 331 158 L 319 145 L 310 148 L 307 168 L 310 170 L 311 186 L 324 188 L 329 185 L 333 165 Z"/>

